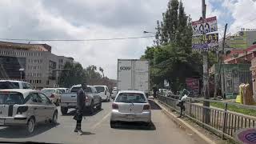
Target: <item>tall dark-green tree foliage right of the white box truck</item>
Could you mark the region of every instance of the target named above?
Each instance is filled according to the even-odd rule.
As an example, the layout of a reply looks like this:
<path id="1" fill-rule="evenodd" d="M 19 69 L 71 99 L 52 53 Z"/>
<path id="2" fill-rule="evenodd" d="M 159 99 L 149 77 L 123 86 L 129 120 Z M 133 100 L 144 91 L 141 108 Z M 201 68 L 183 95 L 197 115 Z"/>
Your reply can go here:
<path id="1" fill-rule="evenodd" d="M 157 21 L 154 46 L 147 47 L 142 59 L 150 60 L 150 83 L 163 87 L 166 79 L 175 92 L 185 86 L 186 78 L 202 77 L 202 56 L 192 52 L 191 18 L 187 16 L 182 2 L 170 0 Z M 210 66 L 216 62 L 209 54 Z"/>

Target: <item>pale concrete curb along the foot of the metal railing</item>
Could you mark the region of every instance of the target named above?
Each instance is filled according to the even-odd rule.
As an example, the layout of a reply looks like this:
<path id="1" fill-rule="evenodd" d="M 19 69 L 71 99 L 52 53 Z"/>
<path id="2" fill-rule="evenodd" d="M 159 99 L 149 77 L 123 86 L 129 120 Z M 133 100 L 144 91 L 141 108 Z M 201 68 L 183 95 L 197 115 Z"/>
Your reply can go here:
<path id="1" fill-rule="evenodd" d="M 168 115 L 173 122 L 175 122 L 179 126 L 184 127 L 186 129 L 186 131 L 189 131 L 190 133 L 198 135 L 198 138 L 200 138 L 200 140 L 204 141 L 205 143 L 216 144 L 214 141 L 210 140 L 210 138 L 207 138 L 204 134 L 202 134 L 198 130 L 196 130 L 193 126 L 190 126 L 190 124 L 188 124 L 181 118 L 177 118 L 177 116 L 175 114 L 172 114 L 170 112 L 170 110 L 167 110 L 165 106 L 162 106 L 162 104 L 160 102 L 158 102 L 157 100 L 154 100 L 154 102 L 156 102 L 158 104 L 158 106 L 160 106 L 162 108 L 163 113 Z"/>

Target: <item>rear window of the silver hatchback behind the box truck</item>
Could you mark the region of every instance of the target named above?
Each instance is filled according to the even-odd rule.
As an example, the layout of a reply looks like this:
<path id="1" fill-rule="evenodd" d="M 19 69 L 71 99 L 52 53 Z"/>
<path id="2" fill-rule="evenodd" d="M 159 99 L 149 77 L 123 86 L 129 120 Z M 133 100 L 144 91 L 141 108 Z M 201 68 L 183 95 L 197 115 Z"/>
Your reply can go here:
<path id="1" fill-rule="evenodd" d="M 144 94 L 120 93 L 115 102 L 146 103 L 146 98 Z"/>

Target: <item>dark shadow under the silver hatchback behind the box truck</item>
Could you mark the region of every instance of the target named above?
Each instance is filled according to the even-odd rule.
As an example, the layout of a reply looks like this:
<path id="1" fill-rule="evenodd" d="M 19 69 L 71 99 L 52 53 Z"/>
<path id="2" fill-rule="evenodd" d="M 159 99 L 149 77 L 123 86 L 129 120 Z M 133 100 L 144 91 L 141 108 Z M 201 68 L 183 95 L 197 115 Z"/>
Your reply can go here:
<path id="1" fill-rule="evenodd" d="M 120 122 L 116 123 L 114 129 L 120 130 L 156 130 L 154 123 L 151 122 L 150 126 L 146 126 L 140 122 Z"/>

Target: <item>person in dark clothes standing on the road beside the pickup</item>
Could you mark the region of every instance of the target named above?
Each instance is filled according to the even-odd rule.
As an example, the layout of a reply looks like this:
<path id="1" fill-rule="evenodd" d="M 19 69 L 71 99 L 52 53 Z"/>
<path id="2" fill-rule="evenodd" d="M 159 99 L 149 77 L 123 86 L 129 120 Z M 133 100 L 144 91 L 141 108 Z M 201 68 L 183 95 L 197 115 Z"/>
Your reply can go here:
<path id="1" fill-rule="evenodd" d="M 77 125 L 74 129 L 74 132 L 78 132 L 79 135 L 82 135 L 82 130 L 81 130 L 81 122 L 82 122 L 82 114 L 84 107 L 86 105 L 85 100 L 86 100 L 86 83 L 82 83 L 82 88 L 78 90 L 77 93 L 77 113 L 74 116 L 74 119 L 77 120 Z"/>

